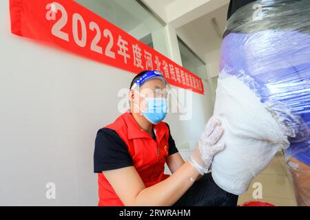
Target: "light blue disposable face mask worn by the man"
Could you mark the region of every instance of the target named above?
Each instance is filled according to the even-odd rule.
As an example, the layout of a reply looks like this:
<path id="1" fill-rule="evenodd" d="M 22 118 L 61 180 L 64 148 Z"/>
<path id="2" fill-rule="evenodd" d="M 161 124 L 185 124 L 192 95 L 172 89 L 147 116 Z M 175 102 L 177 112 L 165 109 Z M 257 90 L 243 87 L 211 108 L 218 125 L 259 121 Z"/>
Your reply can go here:
<path id="1" fill-rule="evenodd" d="M 167 99 L 166 98 L 146 98 L 147 110 L 142 115 L 152 124 L 158 124 L 163 121 L 167 115 Z M 136 104 L 138 107 L 138 105 Z"/>

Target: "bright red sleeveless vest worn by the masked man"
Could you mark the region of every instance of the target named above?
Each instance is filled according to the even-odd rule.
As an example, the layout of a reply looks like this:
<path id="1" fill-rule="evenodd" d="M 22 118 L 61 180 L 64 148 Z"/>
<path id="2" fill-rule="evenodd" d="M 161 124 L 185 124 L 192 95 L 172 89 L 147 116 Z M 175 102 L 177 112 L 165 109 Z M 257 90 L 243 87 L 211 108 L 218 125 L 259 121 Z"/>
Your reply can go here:
<path id="1" fill-rule="evenodd" d="M 153 186 L 169 177 L 169 175 L 164 174 L 165 162 L 169 152 L 167 124 L 164 122 L 154 124 L 156 142 L 138 126 L 129 112 L 124 113 L 105 128 L 116 131 L 125 142 L 134 167 L 145 187 Z M 124 206 L 103 173 L 98 174 L 98 184 L 99 206 Z"/>

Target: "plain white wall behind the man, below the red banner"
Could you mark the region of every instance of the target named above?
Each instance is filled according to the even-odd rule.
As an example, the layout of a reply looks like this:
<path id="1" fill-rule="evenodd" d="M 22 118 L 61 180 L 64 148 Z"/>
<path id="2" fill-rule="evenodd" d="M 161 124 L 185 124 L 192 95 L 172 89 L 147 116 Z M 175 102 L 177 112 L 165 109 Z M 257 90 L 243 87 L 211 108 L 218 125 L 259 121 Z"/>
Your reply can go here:
<path id="1" fill-rule="evenodd" d="M 10 34 L 8 1 L 0 14 L 0 205 L 95 206 L 96 131 L 121 114 L 134 74 Z M 209 96 L 193 97 L 192 120 L 167 117 L 177 144 L 198 140 L 211 115 Z"/>

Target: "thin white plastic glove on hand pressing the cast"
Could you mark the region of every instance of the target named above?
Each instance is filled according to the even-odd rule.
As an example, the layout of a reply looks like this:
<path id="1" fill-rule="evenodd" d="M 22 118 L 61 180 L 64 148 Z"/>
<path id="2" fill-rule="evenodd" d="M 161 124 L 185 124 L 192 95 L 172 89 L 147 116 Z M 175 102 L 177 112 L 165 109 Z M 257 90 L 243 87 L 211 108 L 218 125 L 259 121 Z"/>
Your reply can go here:
<path id="1" fill-rule="evenodd" d="M 194 152 L 189 157 L 189 163 L 198 170 L 200 175 L 207 173 L 214 155 L 224 149 L 225 144 L 216 144 L 222 134 L 220 120 L 211 117 L 205 125 L 205 131 L 200 135 Z"/>

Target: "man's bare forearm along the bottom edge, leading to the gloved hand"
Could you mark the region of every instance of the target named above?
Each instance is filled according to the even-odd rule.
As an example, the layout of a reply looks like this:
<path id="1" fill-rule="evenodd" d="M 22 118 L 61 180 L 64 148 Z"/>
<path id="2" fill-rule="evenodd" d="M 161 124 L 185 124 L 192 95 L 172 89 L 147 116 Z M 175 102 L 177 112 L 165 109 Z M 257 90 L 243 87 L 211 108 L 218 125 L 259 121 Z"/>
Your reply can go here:
<path id="1" fill-rule="evenodd" d="M 172 206 L 199 176 L 196 168 L 186 162 L 167 179 L 139 192 L 131 205 Z"/>

